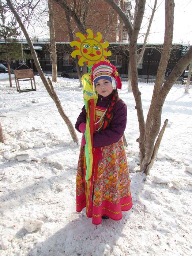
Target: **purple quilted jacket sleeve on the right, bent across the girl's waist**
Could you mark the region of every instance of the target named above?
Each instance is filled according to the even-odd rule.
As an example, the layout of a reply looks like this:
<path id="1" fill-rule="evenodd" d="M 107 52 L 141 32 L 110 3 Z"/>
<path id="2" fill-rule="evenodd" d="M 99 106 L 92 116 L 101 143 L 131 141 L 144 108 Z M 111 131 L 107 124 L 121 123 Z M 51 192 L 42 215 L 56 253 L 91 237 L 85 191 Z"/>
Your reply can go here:
<path id="1" fill-rule="evenodd" d="M 95 133 L 93 147 L 109 146 L 121 139 L 127 124 L 127 106 L 120 99 L 113 109 L 113 119 L 108 129 Z"/>

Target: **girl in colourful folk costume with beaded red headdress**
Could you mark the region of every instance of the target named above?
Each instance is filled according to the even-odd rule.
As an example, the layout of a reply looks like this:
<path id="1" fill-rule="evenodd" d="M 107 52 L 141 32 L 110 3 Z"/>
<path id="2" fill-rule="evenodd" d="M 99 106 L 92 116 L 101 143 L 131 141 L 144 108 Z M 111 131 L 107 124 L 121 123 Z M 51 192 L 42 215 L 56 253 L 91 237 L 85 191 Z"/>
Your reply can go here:
<path id="1" fill-rule="evenodd" d="M 127 106 L 118 97 L 121 80 L 117 69 L 107 61 L 92 67 L 91 80 L 98 93 L 94 109 L 93 169 L 85 179 L 85 139 L 82 137 L 76 176 L 76 210 L 86 207 L 93 224 L 103 219 L 120 220 L 122 211 L 132 207 L 130 178 L 123 143 L 127 123 Z M 75 128 L 84 134 L 87 113 L 82 108 Z"/>

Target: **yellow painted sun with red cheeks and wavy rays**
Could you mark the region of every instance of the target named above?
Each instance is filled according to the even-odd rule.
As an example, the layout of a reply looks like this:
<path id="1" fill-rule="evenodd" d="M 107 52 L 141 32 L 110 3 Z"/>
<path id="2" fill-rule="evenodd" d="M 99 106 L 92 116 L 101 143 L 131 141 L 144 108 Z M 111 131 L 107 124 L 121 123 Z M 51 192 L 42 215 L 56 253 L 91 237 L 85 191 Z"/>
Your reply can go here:
<path id="1" fill-rule="evenodd" d="M 71 46 L 76 46 L 75 50 L 71 53 L 72 57 L 78 56 L 78 64 L 80 66 L 84 65 L 84 62 L 88 67 L 99 61 L 104 61 L 106 57 L 111 56 L 111 51 L 107 52 L 107 47 L 109 42 L 106 41 L 104 44 L 102 42 L 101 33 L 97 32 L 97 36 L 93 35 L 93 31 L 87 29 L 88 35 L 83 35 L 82 33 L 76 33 L 76 37 L 80 39 L 78 41 L 72 41 Z"/>

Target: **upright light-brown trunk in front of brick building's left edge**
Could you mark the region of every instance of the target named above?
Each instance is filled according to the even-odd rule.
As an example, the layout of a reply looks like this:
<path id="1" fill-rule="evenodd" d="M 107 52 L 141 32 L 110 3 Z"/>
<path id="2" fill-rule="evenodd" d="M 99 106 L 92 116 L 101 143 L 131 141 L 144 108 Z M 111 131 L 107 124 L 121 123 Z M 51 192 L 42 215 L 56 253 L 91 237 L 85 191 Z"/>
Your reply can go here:
<path id="1" fill-rule="evenodd" d="M 55 40 L 55 33 L 54 33 L 52 0 L 48 0 L 48 7 L 49 7 L 49 37 L 50 37 L 50 45 L 51 45 L 51 62 L 52 62 L 52 81 L 57 82 L 57 51 L 56 51 L 56 40 Z"/>

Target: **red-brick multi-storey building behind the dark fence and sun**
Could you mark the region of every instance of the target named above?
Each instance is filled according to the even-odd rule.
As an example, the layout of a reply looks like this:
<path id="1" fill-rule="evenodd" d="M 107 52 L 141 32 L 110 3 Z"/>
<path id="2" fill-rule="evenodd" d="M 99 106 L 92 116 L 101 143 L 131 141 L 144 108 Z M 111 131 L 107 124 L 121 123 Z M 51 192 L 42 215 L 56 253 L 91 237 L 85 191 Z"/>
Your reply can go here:
<path id="1" fill-rule="evenodd" d="M 67 0 L 69 6 L 72 7 L 74 2 Z M 98 31 L 102 34 L 103 41 L 109 42 L 128 42 L 127 31 L 124 29 L 123 23 L 118 18 L 116 12 L 104 0 L 91 0 L 88 6 L 83 6 L 86 1 L 76 1 L 76 13 L 78 16 L 83 15 L 87 10 L 87 18 L 85 28 L 93 30 L 94 34 Z M 117 2 L 117 0 L 116 0 Z M 120 1 L 121 8 L 127 12 L 130 11 L 131 4 L 127 0 Z M 86 9 L 87 8 L 87 9 Z M 54 23 L 56 42 L 69 42 L 67 20 L 65 11 L 59 4 L 53 2 Z M 82 20 L 82 18 L 81 18 Z M 79 31 L 75 22 L 70 18 L 73 34 Z"/>

